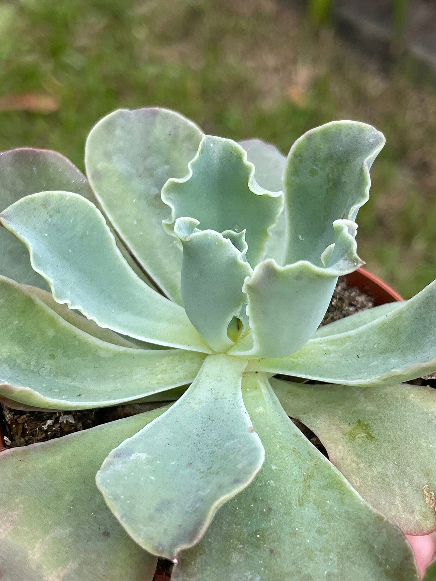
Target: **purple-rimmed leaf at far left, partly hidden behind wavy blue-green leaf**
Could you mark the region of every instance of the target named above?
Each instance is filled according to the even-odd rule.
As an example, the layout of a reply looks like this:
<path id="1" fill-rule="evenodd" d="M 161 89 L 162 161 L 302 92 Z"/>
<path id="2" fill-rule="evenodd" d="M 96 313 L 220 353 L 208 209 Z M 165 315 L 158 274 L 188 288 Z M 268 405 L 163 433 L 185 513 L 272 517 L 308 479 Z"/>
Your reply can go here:
<path id="1" fill-rule="evenodd" d="M 60 153 L 31 148 L 0 153 L 0 211 L 30 193 L 56 188 L 92 199 L 84 175 Z M 47 288 L 44 279 L 31 267 L 26 249 L 3 228 L 0 228 L 0 274 Z"/>

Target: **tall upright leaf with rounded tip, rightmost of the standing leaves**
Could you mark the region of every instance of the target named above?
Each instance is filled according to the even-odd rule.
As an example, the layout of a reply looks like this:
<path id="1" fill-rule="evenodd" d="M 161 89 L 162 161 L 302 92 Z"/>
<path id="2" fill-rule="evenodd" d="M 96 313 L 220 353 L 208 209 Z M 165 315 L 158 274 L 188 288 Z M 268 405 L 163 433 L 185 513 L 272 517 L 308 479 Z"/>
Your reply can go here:
<path id="1" fill-rule="evenodd" d="M 296 140 L 284 174 L 286 264 L 309 260 L 321 266 L 321 254 L 335 238 L 331 224 L 355 221 L 367 202 L 369 170 L 384 143 L 380 131 L 358 121 L 332 121 Z"/>

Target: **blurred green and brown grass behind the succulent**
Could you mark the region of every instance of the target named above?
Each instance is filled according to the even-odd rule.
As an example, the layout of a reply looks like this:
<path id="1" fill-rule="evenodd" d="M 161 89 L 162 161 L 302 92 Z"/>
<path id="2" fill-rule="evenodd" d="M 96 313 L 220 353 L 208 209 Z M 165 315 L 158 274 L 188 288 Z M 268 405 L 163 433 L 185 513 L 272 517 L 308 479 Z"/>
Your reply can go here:
<path id="1" fill-rule="evenodd" d="M 374 124 L 387 146 L 359 214 L 360 256 L 405 297 L 435 278 L 434 86 L 381 73 L 285 3 L 3 0 L 0 62 L 0 97 L 59 102 L 48 114 L 0 107 L 0 150 L 56 149 L 81 169 L 88 131 L 117 107 L 170 107 L 206 132 L 284 153 L 333 119 Z"/>

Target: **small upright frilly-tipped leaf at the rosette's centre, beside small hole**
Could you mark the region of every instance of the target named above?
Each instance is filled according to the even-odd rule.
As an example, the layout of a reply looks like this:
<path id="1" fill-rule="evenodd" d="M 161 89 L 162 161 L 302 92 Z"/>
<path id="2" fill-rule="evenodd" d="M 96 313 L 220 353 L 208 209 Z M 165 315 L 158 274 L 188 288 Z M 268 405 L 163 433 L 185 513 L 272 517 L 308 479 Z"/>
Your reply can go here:
<path id="1" fill-rule="evenodd" d="M 183 245 L 181 292 L 185 311 L 197 331 L 217 352 L 234 345 L 227 328 L 240 314 L 242 292 L 251 266 L 243 252 L 213 230 L 199 231 L 197 220 L 177 218 L 174 232 Z"/>

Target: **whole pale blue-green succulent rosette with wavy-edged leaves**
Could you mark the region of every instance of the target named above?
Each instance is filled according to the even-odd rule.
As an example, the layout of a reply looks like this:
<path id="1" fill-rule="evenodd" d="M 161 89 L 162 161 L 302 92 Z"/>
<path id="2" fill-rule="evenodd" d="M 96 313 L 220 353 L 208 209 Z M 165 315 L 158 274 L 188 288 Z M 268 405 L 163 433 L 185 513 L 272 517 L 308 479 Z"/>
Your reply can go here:
<path id="1" fill-rule="evenodd" d="M 2 454 L 3 581 L 146 581 L 153 555 L 175 581 L 419 579 L 401 530 L 436 526 L 436 393 L 401 382 L 436 370 L 435 283 L 317 330 L 383 145 L 334 121 L 286 159 L 151 108 L 94 127 L 88 181 L 0 155 L 2 401 L 179 398 Z"/>

